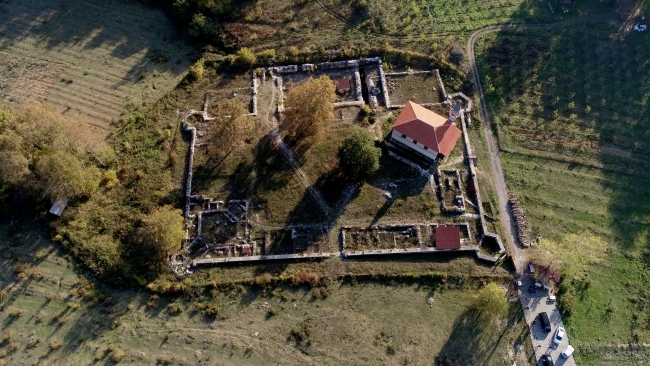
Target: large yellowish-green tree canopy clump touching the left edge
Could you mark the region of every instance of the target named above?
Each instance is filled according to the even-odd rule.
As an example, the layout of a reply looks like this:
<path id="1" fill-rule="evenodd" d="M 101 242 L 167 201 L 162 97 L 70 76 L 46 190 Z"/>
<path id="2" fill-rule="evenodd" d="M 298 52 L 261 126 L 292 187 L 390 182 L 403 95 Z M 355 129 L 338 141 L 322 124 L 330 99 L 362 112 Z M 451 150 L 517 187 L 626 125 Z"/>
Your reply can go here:
<path id="1" fill-rule="evenodd" d="M 51 199 L 88 197 L 115 153 L 88 126 L 51 104 L 19 111 L 0 106 L 0 178 L 15 189 L 35 189 Z"/>

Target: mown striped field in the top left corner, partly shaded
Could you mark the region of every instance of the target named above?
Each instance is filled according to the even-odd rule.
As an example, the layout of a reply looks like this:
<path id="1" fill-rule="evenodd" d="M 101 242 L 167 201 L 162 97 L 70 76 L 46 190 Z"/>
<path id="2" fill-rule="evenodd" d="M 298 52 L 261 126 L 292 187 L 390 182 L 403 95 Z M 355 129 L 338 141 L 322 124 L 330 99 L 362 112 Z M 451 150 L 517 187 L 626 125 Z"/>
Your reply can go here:
<path id="1" fill-rule="evenodd" d="M 0 3 L 0 102 L 49 101 L 106 135 L 157 101 L 197 55 L 158 10 L 132 1 Z"/>

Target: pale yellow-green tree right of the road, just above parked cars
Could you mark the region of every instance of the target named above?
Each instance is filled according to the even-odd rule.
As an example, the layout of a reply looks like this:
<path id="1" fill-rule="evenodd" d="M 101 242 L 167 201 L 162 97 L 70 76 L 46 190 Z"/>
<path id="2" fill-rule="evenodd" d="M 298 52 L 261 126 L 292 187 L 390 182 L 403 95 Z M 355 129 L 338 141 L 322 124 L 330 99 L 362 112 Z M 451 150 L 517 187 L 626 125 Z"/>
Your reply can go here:
<path id="1" fill-rule="evenodd" d="M 541 239 L 532 258 L 540 265 L 572 277 L 583 274 L 588 265 L 600 263 L 606 253 L 607 243 L 592 232 L 583 231 L 567 234 L 558 242 Z"/>

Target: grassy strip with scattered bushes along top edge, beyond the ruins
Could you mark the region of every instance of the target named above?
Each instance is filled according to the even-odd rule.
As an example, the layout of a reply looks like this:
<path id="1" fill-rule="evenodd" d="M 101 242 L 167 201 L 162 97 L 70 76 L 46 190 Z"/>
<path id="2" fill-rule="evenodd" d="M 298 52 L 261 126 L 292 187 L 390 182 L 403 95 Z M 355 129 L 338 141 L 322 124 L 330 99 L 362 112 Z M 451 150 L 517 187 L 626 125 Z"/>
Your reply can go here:
<path id="1" fill-rule="evenodd" d="M 363 6 L 362 3 L 367 4 Z M 610 11 L 613 4 L 581 4 L 556 6 L 551 12 L 546 2 L 522 0 L 464 2 L 462 6 L 448 0 L 414 1 L 347 1 L 321 0 L 311 2 L 251 2 L 244 7 L 243 19 L 230 26 L 236 28 L 242 41 L 250 44 L 281 43 L 306 45 L 316 43 L 329 47 L 332 41 L 354 38 L 404 38 L 411 41 L 437 43 L 443 48 L 454 37 L 488 25 L 520 22 L 548 22 L 581 14 Z M 326 11 L 323 11 L 325 9 Z M 569 10 L 565 13 L 563 10 Z M 272 24 L 282 27 L 270 29 Z M 255 37 L 251 35 L 255 34 Z M 431 42 L 430 35 L 436 38 Z"/>

